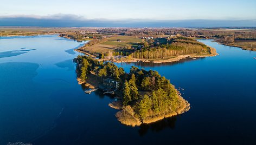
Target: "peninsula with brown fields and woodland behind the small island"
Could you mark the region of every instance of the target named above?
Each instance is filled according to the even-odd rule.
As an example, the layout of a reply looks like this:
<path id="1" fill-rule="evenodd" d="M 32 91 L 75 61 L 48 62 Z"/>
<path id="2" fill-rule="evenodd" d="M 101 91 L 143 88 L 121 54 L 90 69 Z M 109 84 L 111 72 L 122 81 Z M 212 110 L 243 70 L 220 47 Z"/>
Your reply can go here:
<path id="1" fill-rule="evenodd" d="M 217 55 L 214 48 L 194 38 L 180 35 L 147 37 L 95 35 L 93 37 L 91 41 L 76 51 L 91 57 L 98 57 L 99 61 L 164 63 L 180 61 L 184 58 L 196 59 L 196 57 Z"/>

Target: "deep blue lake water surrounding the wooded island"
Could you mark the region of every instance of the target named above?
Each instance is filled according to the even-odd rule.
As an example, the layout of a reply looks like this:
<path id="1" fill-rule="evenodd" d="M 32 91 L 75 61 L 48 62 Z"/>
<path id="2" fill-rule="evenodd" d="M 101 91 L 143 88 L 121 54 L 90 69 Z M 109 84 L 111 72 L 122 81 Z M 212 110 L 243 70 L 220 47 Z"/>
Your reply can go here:
<path id="1" fill-rule="evenodd" d="M 215 57 L 117 63 L 159 71 L 191 109 L 140 127 L 120 124 L 113 96 L 76 81 L 76 42 L 57 35 L 0 37 L 0 144 L 255 144 L 256 52 L 200 39 Z"/>

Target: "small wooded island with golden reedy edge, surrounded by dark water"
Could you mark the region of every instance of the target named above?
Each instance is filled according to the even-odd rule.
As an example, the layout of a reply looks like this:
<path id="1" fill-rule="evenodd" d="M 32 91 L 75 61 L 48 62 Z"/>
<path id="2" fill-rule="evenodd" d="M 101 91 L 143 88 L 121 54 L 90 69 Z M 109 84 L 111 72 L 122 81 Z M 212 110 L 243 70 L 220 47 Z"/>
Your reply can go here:
<path id="1" fill-rule="evenodd" d="M 86 84 L 89 90 L 100 89 L 104 94 L 117 96 L 109 106 L 120 110 L 116 117 L 122 124 L 140 126 L 190 109 L 174 85 L 157 71 L 131 67 L 128 74 L 112 62 L 81 55 L 74 62 L 80 84 Z"/>

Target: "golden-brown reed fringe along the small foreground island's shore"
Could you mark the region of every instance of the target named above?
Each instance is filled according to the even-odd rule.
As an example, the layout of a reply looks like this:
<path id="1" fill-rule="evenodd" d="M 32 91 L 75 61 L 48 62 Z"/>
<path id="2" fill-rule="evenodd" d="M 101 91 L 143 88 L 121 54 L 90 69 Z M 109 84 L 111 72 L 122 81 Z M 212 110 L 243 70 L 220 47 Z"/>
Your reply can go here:
<path id="1" fill-rule="evenodd" d="M 76 62 L 78 63 L 78 61 Z M 78 81 L 78 84 L 85 85 L 85 87 L 88 87 L 89 89 L 98 88 L 100 83 L 93 71 L 90 71 L 90 73 L 87 75 L 86 81 L 82 81 L 79 77 L 77 77 L 76 80 Z M 115 114 L 115 116 L 121 124 L 132 127 L 140 126 L 141 124 L 153 123 L 159 120 L 163 120 L 167 117 L 172 117 L 187 112 L 190 109 L 190 104 L 188 103 L 188 101 L 184 100 L 184 98 L 180 94 L 180 91 L 178 91 L 176 88 L 175 92 L 175 106 L 170 106 L 167 110 L 157 114 L 153 113 L 153 111 L 150 111 L 148 116 L 146 116 L 145 118 L 140 118 L 138 116 L 138 108 L 136 106 L 123 106 L 121 96 L 119 96 L 118 94 L 116 94 L 116 96 L 119 98 L 119 100 L 108 103 L 108 106 L 110 108 L 120 110 Z"/>

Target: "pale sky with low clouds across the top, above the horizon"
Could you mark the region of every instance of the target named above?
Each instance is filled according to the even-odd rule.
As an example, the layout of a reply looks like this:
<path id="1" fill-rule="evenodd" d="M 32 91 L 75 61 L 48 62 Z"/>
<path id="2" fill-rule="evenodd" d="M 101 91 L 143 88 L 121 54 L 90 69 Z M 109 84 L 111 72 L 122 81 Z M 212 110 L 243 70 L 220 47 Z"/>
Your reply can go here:
<path id="1" fill-rule="evenodd" d="M 0 0 L 0 3 L 0 25 L 22 25 L 22 21 L 30 19 L 37 22 L 77 21 L 76 25 L 79 22 L 86 25 L 88 21 L 101 24 L 105 22 L 106 25 L 116 22 L 130 25 L 156 22 L 161 25 L 163 22 L 194 20 L 199 23 L 204 20 L 208 23 L 218 22 L 219 25 L 223 22 L 223 26 L 242 23 L 245 26 L 256 26 L 255 0 Z"/>

